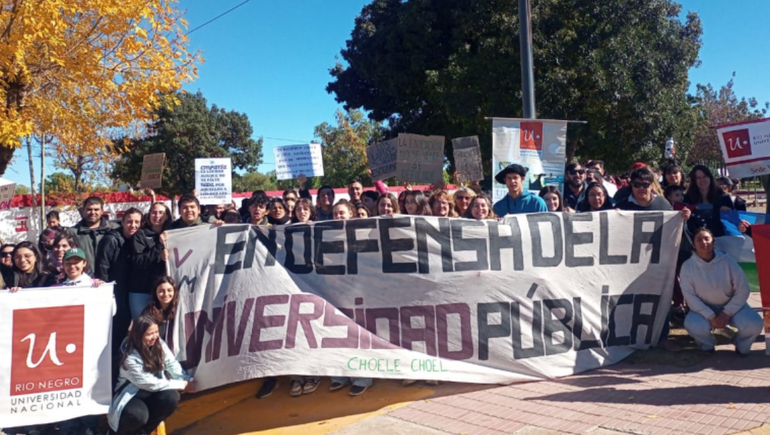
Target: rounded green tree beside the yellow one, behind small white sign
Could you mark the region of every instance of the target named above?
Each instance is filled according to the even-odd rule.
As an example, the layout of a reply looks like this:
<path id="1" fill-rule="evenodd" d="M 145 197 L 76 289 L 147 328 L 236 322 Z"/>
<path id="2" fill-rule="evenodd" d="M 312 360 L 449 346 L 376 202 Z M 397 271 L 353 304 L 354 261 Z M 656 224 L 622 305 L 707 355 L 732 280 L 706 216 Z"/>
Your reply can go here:
<path id="1" fill-rule="evenodd" d="M 157 190 L 179 195 L 195 189 L 196 158 L 230 157 L 233 173 L 256 172 L 262 162 L 262 139 L 251 138 L 249 118 L 216 105 L 208 107 L 200 92 L 165 96 L 154 117 L 146 137 L 115 141 L 120 157 L 112 172 L 114 179 L 136 185 L 143 156 L 166 153 L 163 188 Z"/>

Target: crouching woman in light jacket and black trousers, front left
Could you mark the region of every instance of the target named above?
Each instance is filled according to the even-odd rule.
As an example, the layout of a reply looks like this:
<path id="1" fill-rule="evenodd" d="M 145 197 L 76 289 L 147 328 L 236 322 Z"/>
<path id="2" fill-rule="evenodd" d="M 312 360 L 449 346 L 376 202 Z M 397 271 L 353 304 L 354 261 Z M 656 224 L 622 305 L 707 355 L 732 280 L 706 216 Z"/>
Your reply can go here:
<path id="1" fill-rule="evenodd" d="M 180 392 L 192 391 L 192 378 L 159 338 L 157 320 L 150 315 L 134 320 L 121 350 L 110 429 L 117 434 L 150 433 L 176 411 Z"/>

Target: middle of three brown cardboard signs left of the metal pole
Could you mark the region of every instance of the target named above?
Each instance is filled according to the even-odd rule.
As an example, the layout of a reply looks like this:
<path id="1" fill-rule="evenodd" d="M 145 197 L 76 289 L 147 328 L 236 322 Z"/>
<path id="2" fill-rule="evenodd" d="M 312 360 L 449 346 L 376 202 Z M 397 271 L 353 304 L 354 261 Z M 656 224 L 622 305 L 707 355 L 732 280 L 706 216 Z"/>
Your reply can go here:
<path id="1" fill-rule="evenodd" d="M 434 183 L 444 178 L 444 136 L 398 135 L 396 178 Z"/>

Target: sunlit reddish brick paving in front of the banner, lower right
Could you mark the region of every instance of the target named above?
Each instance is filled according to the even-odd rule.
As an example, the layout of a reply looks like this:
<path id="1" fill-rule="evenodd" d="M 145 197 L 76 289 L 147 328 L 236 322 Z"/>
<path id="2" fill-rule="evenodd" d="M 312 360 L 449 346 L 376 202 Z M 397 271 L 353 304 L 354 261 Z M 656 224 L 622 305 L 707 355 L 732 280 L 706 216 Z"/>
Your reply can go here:
<path id="1" fill-rule="evenodd" d="M 752 306 L 759 306 L 752 295 Z M 445 385 L 437 397 L 388 417 L 446 433 L 722 435 L 770 423 L 770 357 L 764 343 L 740 357 L 731 344 L 689 367 L 627 361 L 558 381 L 480 388 Z M 656 350 L 654 352 L 662 352 Z M 686 351 L 697 353 L 699 351 Z M 685 354 L 683 352 L 682 354 Z"/>

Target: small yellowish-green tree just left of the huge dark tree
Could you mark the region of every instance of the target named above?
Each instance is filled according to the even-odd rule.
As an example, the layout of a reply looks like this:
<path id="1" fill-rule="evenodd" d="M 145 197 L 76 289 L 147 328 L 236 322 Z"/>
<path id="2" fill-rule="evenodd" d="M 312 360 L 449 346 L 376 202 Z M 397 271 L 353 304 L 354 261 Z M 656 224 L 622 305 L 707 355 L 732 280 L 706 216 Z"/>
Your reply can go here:
<path id="1" fill-rule="evenodd" d="M 315 137 L 321 142 L 324 157 L 321 184 L 341 187 L 359 178 L 371 185 L 366 171 L 366 147 L 381 140 L 382 126 L 355 109 L 348 112 L 338 110 L 334 117 L 336 126 L 324 122 L 315 128 Z"/>

